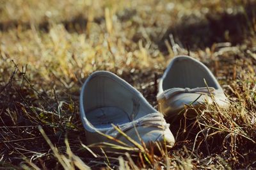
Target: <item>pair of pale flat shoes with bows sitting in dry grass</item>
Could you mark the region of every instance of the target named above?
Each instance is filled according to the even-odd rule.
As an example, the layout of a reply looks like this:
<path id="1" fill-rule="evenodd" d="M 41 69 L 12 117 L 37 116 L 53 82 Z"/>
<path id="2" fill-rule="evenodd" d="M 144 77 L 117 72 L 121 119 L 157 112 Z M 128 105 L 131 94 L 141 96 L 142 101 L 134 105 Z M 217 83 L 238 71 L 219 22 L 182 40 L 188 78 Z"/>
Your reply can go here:
<path id="1" fill-rule="evenodd" d="M 209 87 L 205 87 L 204 79 Z M 193 58 L 179 56 L 171 61 L 159 82 L 157 101 L 163 114 L 175 115 L 184 109 L 184 104 L 198 107 L 207 101 L 214 102 L 212 95 L 217 104 L 228 105 L 210 70 Z M 175 143 L 163 114 L 111 72 L 97 71 L 86 79 L 81 90 L 80 112 L 88 145 L 144 143 L 148 147 L 158 141 L 172 147 Z"/>

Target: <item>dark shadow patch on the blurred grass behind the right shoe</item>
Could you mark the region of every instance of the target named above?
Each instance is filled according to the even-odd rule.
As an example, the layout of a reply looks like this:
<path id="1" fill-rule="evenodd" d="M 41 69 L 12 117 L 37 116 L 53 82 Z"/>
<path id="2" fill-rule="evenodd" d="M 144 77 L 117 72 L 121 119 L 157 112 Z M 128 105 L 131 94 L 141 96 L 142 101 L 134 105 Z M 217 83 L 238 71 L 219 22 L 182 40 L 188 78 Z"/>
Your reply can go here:
<path id="1" fill-rule="evenodd" d="M 250 3 L 246 5 L 244 12 L 209 13 L 205 19 L 188 16 L 166 31 L 158 43 L 159 48 L 163 52 L 167 50 L 164 40 L 170 42 L 170 35 L 173 35 L 176 43 L 190 49 L 204 49 L 218 42 L 231 42 L 232 45 L 241 43 L 246 36 L 255 34 L 255 9 L 256 3 Z"/>

